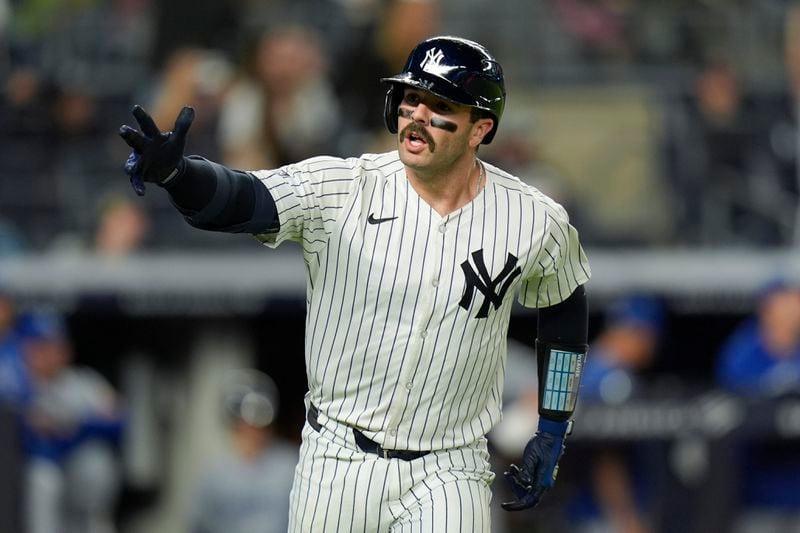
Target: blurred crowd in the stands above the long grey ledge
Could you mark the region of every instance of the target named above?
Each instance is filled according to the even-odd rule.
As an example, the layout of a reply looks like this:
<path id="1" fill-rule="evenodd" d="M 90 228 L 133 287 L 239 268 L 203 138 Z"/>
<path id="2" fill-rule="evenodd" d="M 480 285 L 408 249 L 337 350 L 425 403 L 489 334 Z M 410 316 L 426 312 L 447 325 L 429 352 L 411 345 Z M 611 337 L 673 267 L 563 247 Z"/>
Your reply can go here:
<path id="1" fill-rule="evenodd" d="M 91 240 L 104 199 L 129 196 L 133 103 L 164 128 L 194 105 L 189 151 L 238 168 L 386 148 L 378 78 L 436 33 L 502 59 L 509 112 L 482 157 L 567 205 L 588 245 L 791 244 L 793 4 L 6 0 L 2 249 Z M 146 244 L 207 244 L 148 200 Z"/>

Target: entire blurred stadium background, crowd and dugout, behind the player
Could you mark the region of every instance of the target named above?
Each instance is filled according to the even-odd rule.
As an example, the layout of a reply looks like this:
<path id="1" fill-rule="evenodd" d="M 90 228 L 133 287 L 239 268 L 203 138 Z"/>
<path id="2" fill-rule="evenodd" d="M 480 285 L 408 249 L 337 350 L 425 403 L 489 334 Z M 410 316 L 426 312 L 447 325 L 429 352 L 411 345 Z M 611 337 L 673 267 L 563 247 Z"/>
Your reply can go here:
<path id="1" fill-rule="evenodd" d="M 434 34 L 500 60 L 480 157 L 562 203 L 594 270 L 559 483 L 495 531 L 800 531 L 796 0 L 0 0 L 0 530 L 285 531 L 301 259 L 136 197 L 117 130 L 188 104 L 187 152 L 235 168 L 392 149 L 378 79 Z"/>

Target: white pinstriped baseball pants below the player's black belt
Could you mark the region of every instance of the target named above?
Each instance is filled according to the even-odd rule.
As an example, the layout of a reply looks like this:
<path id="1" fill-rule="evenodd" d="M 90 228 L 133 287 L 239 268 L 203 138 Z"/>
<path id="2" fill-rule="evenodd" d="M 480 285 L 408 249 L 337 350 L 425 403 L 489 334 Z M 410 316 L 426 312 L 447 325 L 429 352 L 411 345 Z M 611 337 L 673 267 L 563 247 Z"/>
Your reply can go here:
<path id="1" fill-rule="evenodd" d="M 290 533 L 489 533 L 486 439 L 413 461 L 361 451 L 351 428 L 303 427 Z"/>

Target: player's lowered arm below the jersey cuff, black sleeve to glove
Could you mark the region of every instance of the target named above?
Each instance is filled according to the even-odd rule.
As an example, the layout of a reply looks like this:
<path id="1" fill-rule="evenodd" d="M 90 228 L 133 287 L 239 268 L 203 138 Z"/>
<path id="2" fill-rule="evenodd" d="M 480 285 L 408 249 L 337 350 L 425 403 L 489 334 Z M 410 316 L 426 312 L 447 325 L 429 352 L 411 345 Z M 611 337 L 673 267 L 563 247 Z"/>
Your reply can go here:
<path id="1" fill-rule="evenodd" d="M 539 427 L 505 477 L 516 500 L 507 511 L 529 509 L 552 488 L 572 427 L 580 376 L 588 352 L 588 304 L 579 285 L 559 304 L 539 310 L 536 356 L 539 370 Z"/>

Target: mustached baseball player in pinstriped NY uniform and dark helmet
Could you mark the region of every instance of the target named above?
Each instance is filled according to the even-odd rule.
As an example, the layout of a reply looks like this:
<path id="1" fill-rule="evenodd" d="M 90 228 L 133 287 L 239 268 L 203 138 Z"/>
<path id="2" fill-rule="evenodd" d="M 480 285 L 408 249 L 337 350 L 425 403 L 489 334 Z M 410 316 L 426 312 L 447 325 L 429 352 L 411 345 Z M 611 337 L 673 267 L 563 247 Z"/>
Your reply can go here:
<path id="1" fill-rule="evenodd" d="M 192 109 L 162 133 L 137 106 L 140 130 L 120 130 L 126 171 L 139 194 L 165 188 L 193 226 L 303 248 L 308 416 L 290 531 L 488 531 L 485 435 L 501 417 L 514 295 L 540 309 L 541 416 L 505 473 L 509 511 L 556 479 L 589 266 L 560 205 L 477 157 L 506 98 L 483 46 L 425 40 L 382 81 L 395 151 L 243 172 L 183 156 Z"/>

